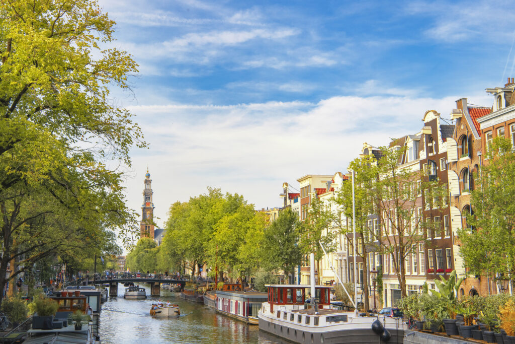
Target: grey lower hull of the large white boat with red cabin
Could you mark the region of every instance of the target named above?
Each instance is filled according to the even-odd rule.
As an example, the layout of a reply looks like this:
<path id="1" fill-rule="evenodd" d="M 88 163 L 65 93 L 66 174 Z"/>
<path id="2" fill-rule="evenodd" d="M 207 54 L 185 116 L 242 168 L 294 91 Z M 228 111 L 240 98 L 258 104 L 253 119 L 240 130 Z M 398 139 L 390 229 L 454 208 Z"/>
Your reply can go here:
<path id="1" fill-rule="evenodd" d="M 278 337 L 293 341 L 295 343 L 314 343 L 314 344 L 364 344 L 364 343 L 379 343 L 379 335 L 372 331 L 372 329 L 349 329 L 349 330 L 334 330 L 324 332 L 310 331 L 309 327 L 295 329 L 285 324 L 273 323 L 271 321 L 259 318 L 259 329 L 271 333 Z M 391 338 L 388 343 L 402 344 L 404 342 L 404 330 L 391 330 L 388 329 Z"/>

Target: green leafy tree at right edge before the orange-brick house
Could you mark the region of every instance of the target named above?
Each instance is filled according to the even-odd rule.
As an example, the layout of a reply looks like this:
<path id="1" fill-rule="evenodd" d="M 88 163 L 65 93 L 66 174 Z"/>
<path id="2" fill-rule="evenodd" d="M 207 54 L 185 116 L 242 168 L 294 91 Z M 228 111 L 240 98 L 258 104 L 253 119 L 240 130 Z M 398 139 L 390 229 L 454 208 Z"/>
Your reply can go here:
<path id="1" fill-rule="evenodd" d="M 475 175 L 471 212 L 458 230 L 460 254 L 472 274 L 515 276 L 515 152 L 511 142 L 495 138 L 486 163 Z"/>

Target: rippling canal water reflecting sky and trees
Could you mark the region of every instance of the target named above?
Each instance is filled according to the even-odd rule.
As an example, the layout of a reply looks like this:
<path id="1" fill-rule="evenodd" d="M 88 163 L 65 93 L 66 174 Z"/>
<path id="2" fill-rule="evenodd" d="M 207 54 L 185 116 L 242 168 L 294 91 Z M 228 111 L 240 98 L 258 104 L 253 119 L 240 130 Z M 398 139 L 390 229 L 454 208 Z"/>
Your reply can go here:
<path id="1" fill-rule="evenodd" d="M 257 325 L 247 325 L 225 315 L 217 314 L 204 304 L 189 302 L 179 293 L 161 290 L 160 298 L 125 300 L 125 287 L 118 284 L 118 297 L 102 304 L 99 335 L 102 343 L 245 343 L 290 344 L 289 341 L 259 331 Z M 164 303 L 177 303 L 181 310 L 178 318 L 152 318 L 150 305 L 161 299 Z"/>

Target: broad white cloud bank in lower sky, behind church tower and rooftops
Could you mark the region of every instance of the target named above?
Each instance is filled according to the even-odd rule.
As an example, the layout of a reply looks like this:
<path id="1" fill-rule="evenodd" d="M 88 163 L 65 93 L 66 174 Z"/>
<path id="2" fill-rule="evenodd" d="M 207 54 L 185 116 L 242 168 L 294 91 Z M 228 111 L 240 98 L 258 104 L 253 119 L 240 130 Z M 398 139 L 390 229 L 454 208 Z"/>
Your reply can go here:
<path id="1" fill-rule="evenodd" d="M 391 137 L 414 134 L 426 110 L 448 118 L 458 98 L 378 95 L 316 104 L 132 106 L 151 146 L 133 152 L 136 177 L 127 183 L 129 202 L 140 206 L 148 164 L 156 213 L 163 220 L 171 203 L 187 201 L 206 186 L 241 193 L 260 208 L 279 206 L 282 182 L 345 172 L 363 142 L 384 145 Z M 480 103 L 485 99 L 479 95 L 473 101 L 485 104 Z"/>

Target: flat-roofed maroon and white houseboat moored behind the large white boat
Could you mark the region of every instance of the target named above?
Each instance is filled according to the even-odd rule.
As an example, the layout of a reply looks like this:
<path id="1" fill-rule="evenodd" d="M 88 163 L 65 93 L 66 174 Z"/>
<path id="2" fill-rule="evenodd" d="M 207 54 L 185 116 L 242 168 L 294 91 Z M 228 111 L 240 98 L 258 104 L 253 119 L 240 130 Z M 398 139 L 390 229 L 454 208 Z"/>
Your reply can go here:
<path id="1" fill-rule="evenodd" d="M 266 300 L 266 292 L 218 290 L 216 292 L 216 312 L 255 324 L 254 320 Z"/>

